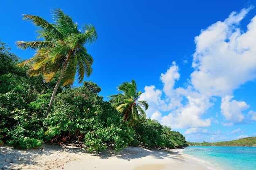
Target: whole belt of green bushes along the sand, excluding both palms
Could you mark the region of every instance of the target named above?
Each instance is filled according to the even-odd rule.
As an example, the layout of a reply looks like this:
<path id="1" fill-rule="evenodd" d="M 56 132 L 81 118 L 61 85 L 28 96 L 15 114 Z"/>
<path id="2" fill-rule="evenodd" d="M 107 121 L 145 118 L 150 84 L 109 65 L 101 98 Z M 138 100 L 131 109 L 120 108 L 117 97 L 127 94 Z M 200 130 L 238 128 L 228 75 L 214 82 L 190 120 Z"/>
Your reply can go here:
<path id="1" fill-rule="evenodd" d="M 42 142 L 81 141 L 87 150 L 96 152 L 108 146 L 115 150 L 129 145 L 150 149 L 186 146 L 182 134 L 155 120 L 140 118 L 137 126 L 129 126 L 111 102 L 103 101 L 101 88 L 91 81 L 81 87 L 59 88 L 47 114 L 58 75 L 51 83 L 41 75 L 29 78 L 28 68 L 18 68 L 18 63 L 20 59 L 0 41 L 0 144 L 39 148 Z"/>

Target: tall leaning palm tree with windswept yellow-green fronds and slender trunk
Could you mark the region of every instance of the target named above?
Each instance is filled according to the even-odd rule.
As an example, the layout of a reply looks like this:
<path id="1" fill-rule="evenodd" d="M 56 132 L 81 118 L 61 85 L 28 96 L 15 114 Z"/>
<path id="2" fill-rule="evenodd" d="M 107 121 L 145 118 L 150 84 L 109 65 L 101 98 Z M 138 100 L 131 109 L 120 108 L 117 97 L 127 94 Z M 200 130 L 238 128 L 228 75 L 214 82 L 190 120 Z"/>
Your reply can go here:
<path id="1" fill-rule="evenodd" d="M 93 59 L 84 46 L 92 44 L 97 39 L 97 33 L 91 24 L 85 24 L 80 31 L 77 23 L 61 9 L 54 9 L 52 13 L 55 24 L 35 15 L 23 15 L 23 20 L 31 21 L 40 28 L 37 39 L 43 40 L 16 41 L 18 48 L 36 50 L 33 58 L 18 64 L 20 67 L 29 66 L 29 76 L 43 74 L 44 80 L 49 82 L 56 74 L 60 74 L 47 114 L 51 110 L 61 81 L 63 86 L 72 85 L 76 74 L 79 83 L 82 83 L 84 75 L 91 75 Z"/>

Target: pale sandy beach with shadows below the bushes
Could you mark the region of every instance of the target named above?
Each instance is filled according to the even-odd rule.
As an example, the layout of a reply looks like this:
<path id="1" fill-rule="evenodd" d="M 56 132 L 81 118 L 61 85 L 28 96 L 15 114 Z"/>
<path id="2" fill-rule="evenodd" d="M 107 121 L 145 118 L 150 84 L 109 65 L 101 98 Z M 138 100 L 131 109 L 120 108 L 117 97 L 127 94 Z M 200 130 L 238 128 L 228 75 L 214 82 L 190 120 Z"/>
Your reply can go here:
<path id="1" fill-rule="evenodd" d="M 206 170 L 207 166 L 180 150 L 128 147 L 88 153 L 81 146 L 43 144 L 42 149 L 18 150 L 0 146 L 0 169 L 6 170 Z"/>

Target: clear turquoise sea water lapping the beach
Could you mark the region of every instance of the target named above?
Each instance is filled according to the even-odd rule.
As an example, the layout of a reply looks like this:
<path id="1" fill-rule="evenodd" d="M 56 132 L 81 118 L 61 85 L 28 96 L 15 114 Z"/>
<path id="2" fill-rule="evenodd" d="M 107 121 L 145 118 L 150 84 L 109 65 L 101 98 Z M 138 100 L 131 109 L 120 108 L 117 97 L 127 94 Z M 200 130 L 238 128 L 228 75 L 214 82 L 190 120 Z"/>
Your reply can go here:
<path id="1" fill-rule="evenodd" d="M 256 147 L 189 146 L 183 153 L 210 163 L 211 169 L 256 170 Z"/>

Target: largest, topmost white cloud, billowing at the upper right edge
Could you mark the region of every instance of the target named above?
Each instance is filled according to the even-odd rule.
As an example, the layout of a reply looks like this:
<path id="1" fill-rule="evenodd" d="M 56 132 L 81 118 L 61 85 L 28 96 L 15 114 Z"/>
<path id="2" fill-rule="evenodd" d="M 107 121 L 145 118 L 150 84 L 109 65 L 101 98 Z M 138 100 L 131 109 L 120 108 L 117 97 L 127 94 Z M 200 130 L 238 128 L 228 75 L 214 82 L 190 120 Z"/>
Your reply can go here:
<path id="1" fill-rule="evenodd" d="M 246 81 L 256 77 L 256 18 L 241 34 L 237 25 L 248 13 L 231 13 L 224 22 L 216 22 L 195 37 L 191 83 L 201 94 L 233 94 Z"/>

